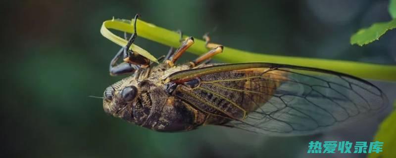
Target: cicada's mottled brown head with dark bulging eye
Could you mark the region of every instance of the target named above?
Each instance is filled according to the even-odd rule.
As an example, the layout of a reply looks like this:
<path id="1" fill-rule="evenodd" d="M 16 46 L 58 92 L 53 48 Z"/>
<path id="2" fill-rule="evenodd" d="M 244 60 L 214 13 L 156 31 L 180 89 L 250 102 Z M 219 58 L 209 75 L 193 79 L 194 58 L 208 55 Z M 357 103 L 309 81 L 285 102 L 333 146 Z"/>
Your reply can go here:
<path id="1" fill-rule="evenodd" d="M 132 110 L 140 94 L 138 82 L 132 78 L 122 79 L 103 92 L 103 109 L 106 114 L 132 121 Z"/>

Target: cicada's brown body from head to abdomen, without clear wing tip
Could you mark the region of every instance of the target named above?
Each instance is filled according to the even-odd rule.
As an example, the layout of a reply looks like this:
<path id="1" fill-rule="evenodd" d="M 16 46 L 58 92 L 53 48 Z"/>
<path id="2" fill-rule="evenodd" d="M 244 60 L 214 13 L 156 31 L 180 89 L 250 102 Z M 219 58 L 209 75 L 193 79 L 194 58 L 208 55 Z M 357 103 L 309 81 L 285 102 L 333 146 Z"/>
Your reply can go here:
<path id="1" fill-rule="evenodd" d="M 201 65 L 202 68 L 207 66 L 212 65 Z M 167 70 L 164 67 L 166 65 L 153 68 L 151 76 L 147 79 L 129 77 L 112 85 L 114 88 L 137 85 L 138 97 L 136 101 L 130 103 L 123 103 L 121 98 L 114 98 L 113 102 L 104 100 L 105 111 L 114 114 L 115 109 L 112 107 L 123 105 L 123 110 L 118 111 L 116 116 L 137 125 L 157 131 L 191 130 L 202 124 L 224 124 L 233 119 L 243 120 L 250 111 L 258 108 L 256 103 L 265 103 L 270 99 L 269 96 L 263 97 L 261 93 L 274 93 L 280 81 L 284 79 L 282 72 L 278 72 L 277 75 L 262 75 L 264 78 L 280 79 L 279 82 L 268 82 L 257 78 L 269 68 L 255 68 L 197 76 L 181 83 L 172 81 L 165 83 L 164 80 L 170 74 L 188 70 L 190 67 L 182 65 Z M 232 81 L 216 82 L 216 80 Z M 174 87 L 170 87 L 172 84 L 175 84 Z M 233 91 L 224 87 L 251 88 L 257 89 L 260 93 Z M 117 96 L 117 90 L 114 92 L 114 96 Z"/>

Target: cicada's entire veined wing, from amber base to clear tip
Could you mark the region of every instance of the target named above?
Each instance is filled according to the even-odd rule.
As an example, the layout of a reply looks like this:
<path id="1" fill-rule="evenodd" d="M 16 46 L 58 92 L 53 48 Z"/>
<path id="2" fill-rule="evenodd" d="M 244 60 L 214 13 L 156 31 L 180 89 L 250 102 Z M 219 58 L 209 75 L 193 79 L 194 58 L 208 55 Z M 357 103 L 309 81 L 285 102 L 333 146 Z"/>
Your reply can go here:
<path id="1" fill-rule="evenodd" d="M 203 106 L 218 106 L 206 112 L 225 114 L 231 119 L 226 126 L 269 135 L 318 133 L 371 116 L 387 105 L 385 94 L 370 82 L 321 69 L 267 64 L 199 78 L 199 87 L 190 94 L 203 98 Z M 222 101 L 213 102 L 219 100 L 213 96 Z"/>

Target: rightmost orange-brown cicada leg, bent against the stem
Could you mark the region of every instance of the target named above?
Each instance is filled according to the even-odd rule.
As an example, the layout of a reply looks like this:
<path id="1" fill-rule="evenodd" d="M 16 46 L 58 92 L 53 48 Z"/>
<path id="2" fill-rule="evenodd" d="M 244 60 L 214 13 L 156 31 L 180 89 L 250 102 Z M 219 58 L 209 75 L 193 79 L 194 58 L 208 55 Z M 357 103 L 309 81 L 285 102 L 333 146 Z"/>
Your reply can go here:
<path id="1" fill-rule="evenodd" d="M 199 56 L 197 59 L 190 62 L 190 65 L 193 68 L 197 67 L 198 64 L 200 64 L 200 63 L 202 63 L 202 64 L 208 63 L 214 55 L 223 52 L 223 48 L 224 48 L 223 45 L 210 43 L 209 42 L 210 38 L 207 33 L 205 35 L 203 35 L 202 38 L 205 40 L 206 48 L 208 48 L 210 50 L 207 53 Z"/>

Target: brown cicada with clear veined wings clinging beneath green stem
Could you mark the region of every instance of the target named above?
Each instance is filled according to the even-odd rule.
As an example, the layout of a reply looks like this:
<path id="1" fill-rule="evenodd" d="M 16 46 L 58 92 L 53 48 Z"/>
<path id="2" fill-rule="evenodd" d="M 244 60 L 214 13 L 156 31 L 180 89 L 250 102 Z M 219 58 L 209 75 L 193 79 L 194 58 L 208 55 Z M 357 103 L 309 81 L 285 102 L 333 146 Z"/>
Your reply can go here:
<path id="1" fill-rule="evenodd" d="M 152 66 L 129 50 L 137 37 L 137 18 L 128 44 L 110 63 L 110 75 L 130 76 L 103 94 L 107 114 L 136 125 L 175 132 L 211 124 L 268 135 L 306 135 L 386 107 L 378 87 L 347 74 L 273 63 L 209 64 L 223 46 L 209 43 L 208 36 L 208 52 L 196 60 L 174 64 L 194 43 L 190 37 Z"/>

